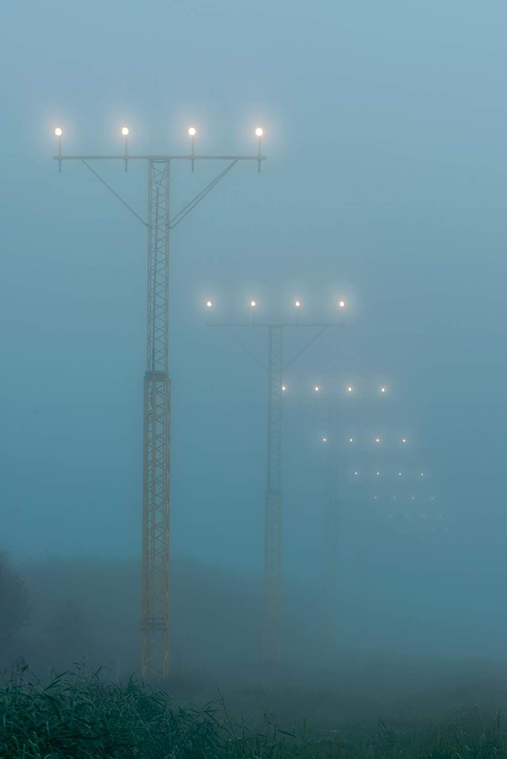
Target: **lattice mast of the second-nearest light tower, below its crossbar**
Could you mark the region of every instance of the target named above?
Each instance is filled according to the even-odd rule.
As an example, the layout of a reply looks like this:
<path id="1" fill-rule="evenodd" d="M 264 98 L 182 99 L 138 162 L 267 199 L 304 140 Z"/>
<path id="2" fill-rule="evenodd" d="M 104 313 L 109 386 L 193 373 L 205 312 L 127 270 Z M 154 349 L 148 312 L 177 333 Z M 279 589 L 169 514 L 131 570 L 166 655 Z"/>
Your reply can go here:
<path id="1" fill-rule="evenodd" d="M 263 658 L 279 660 L 282 631 L 282 327 L 269 327 Z"/>

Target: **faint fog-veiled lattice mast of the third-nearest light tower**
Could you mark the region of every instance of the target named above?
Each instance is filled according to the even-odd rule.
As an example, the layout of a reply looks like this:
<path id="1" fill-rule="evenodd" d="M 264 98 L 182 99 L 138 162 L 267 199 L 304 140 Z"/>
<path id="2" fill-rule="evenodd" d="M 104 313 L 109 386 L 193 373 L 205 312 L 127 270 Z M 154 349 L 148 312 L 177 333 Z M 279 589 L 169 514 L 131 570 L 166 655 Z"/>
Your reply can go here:
<path id="1" fill-rule="evenodd" d="M 329 402 L 326 436 L 326 511 L 324 512 L 324 632 L 329 643 L 336 634 L 338 576 L 338 409 Z"/>

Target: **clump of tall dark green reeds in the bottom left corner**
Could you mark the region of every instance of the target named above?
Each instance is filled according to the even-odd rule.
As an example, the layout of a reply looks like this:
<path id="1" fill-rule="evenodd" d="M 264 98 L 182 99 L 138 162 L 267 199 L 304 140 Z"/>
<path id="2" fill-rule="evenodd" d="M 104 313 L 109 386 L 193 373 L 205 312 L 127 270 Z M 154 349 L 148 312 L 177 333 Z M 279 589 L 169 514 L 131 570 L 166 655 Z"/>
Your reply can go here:
<path id="1" fill-rule="evenodd" d="M 27 667 L 0 694 L 3 757 L 211 757 L 223 739 L 213 710 L 172 709 L 167 694 L 130 680 L 105 685 L 99 672 L 29 679 Z M 223 731 L 222 731 L 223 732 Z"/>

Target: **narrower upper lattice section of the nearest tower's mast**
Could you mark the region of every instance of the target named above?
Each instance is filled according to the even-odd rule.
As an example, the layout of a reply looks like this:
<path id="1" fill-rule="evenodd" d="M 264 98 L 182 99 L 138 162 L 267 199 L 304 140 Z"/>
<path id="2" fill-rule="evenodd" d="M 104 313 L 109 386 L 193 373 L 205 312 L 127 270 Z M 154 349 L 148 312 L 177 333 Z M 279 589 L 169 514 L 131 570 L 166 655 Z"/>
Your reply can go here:
<path id="1" fill-rule="evenodd" d="M 168 371 L 169 165 L 149 162 L 146 369 Z"/>

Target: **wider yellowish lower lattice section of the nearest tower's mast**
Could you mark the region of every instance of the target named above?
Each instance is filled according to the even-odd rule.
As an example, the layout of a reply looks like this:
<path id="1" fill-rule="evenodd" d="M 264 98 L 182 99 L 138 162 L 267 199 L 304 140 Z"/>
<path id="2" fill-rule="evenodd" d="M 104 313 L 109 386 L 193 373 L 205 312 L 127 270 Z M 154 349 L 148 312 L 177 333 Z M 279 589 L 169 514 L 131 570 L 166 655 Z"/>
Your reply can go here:
<path id="1" fill-rule="evenodd" d="M 168 675 L 169 455 L 171 381 L 144 378 L 143 677 Z"/>

